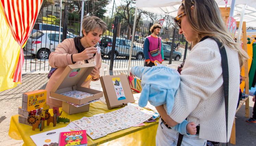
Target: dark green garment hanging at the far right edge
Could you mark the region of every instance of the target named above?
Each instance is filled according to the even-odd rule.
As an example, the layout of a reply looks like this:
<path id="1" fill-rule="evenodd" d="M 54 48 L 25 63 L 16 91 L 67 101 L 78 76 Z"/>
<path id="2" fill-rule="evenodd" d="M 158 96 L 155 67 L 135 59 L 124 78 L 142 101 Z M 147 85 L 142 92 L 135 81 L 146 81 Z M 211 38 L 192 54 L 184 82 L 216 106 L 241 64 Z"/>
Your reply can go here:
<path id="1" fill-rule="evenodd" d="M 249 71 L 249 90 L 251 90 L 256 71 L 256 43 L 253 43 L 253 61 Z M 255 84 L 254 84 L 255 85 Z"/>

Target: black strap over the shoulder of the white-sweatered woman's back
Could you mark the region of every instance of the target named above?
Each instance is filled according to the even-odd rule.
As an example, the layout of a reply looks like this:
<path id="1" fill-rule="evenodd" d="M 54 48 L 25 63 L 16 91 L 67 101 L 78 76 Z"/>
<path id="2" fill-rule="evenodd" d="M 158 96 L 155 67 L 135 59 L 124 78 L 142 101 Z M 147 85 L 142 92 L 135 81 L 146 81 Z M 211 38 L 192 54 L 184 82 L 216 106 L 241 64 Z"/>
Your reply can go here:
<path id="1" fill-rule="evenodd" d="M 214 39 L 219 47 L 220 50 L 220 56 L 221 56 L 221 67 L 222 67 L 222 76 L 223 76 L 223 88 L 224 88 L 224 98 L 225 98 L 225 115 L 226 115 L 226 134 L 227 134 L 227 144 L 228 144 L 228 109 L 229 109 L 229 67 L 228 67 L 228 57 L 227 52 L 225 50 L 224 45 L 222 43 L 214 38 L 214 37 L 203 37 L 201 41 L 212 38 Z"/>

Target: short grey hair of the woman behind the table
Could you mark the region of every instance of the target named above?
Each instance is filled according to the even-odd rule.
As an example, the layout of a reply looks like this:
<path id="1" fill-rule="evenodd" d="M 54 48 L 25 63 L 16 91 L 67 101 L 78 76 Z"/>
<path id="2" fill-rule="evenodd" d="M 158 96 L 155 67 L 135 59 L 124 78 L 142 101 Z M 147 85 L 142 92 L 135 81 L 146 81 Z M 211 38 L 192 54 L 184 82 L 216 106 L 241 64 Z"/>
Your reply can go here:
<path id="1" fill-rule="evenodd" d="M 107 30 L 107 24 L 103 22 L 99 17 L 96 16 L 84 16 L 82 22 L 82 29 L 85 30 L 86 34 L 89 31 L 94 30 L 95 28 L 99 28 L 102 30 L 102 34 Z M 84 33 L 82 30 L 82 34 L 84 37 Z"/>

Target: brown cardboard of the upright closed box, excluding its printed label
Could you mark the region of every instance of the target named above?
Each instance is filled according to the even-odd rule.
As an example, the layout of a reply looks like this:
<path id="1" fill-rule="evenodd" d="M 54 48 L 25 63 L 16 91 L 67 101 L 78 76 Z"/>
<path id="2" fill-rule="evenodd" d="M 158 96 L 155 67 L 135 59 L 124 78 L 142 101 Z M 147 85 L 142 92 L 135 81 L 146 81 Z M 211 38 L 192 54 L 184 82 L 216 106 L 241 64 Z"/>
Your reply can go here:
<path id="1" fill-rule="evenodd" d="M 118 96 L 113 83 L 114 78 L 120 78 L 125 99 L 118 100 Z M 109 106 L 116 107 L 121 106 L 123 104 L 127 104 L 129 102 L 134 102 L 133 94 L 126 75 L 102 76 L 100 77 L 100 82 L 103 89 L 103 93 L 106 98 L 108 108 Z"/>

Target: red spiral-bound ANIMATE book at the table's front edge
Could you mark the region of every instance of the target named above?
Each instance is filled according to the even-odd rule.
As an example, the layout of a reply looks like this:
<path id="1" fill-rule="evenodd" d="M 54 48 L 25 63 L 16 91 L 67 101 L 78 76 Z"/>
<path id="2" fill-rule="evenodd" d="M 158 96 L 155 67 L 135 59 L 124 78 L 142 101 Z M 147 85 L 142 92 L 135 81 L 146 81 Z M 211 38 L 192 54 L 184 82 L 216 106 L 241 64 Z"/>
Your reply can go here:
<path id="1" fill-rule="evenodd" d="M 61 132 L 59 146 L 87 146 L 86 130 Z"/>

